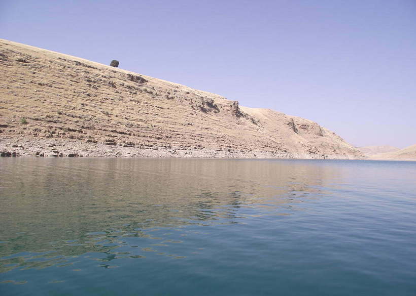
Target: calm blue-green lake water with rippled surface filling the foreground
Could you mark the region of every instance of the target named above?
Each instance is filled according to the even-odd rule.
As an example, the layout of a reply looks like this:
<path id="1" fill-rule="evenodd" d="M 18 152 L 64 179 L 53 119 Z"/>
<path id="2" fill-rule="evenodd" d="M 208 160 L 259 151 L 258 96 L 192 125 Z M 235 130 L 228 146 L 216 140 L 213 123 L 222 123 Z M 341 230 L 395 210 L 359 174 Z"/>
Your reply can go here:
<path id="1" fill-rule="evenodd" d="M 0 294 L 416 295 L 416 162 L 0 159 Z"/>

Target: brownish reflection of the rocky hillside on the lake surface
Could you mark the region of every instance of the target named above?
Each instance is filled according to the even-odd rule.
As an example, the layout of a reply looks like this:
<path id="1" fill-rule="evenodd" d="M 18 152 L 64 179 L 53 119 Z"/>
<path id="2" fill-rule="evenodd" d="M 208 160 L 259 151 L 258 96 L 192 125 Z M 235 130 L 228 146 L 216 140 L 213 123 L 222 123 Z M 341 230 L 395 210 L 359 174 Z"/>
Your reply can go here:
<path id="1" fill-rule="evenodd" d="M 111 256 L 149 228 L 232 222 L 240 207 L 296 207 L 340 174 L 311 161 L 115 158 L 2 159 L 0 173 L 0 257 Z"/>

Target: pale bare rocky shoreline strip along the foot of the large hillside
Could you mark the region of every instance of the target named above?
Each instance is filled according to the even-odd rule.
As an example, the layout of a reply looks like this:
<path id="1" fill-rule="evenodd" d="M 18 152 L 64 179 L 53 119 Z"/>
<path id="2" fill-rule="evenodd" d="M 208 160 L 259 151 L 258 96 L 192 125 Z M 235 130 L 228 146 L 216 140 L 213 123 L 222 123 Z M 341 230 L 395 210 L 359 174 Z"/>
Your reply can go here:
<path id="1" fill-rule="evenodd" d="M 364 159 L 349 155 L 290 153 L 283 151 L 241 151 L 230 149 L 183 149 L 180 147 L 140 148 L 57 139 L 9 138 L 0 140 L 1 157 L 113 157 L 113 158 L 241 158 L 241 159 Z"/>

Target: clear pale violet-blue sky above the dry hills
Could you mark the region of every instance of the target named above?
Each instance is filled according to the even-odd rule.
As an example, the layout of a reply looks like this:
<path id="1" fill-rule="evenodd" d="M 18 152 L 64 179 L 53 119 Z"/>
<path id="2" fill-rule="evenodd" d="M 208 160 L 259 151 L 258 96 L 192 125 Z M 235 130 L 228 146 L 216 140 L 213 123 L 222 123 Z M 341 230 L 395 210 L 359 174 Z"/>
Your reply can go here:
<path id="1" fill-rule="evenodd" d="M 416 144 L 416 0 L 1 0 L 0 38 Z"/>

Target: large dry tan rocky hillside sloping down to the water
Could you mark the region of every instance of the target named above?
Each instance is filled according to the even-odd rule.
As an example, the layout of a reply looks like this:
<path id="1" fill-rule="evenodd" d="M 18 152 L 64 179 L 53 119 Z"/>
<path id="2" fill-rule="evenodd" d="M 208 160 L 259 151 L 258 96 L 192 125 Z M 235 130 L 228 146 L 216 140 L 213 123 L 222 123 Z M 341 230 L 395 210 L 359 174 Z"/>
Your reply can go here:
<path id="1" fill-rule="evenodd" d="M 2 39 L 0 70 L 3 156 L 363 157 L 307 119 Z"/>

